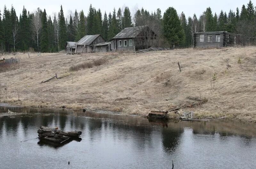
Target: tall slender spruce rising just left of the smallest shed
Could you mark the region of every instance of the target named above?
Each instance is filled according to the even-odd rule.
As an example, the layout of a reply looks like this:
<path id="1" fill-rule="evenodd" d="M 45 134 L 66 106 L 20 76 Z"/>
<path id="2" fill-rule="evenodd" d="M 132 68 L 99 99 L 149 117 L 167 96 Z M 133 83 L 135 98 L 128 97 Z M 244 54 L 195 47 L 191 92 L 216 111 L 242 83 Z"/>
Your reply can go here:
<path id="1" fill-rule="evenodd" d="M 59 27 L 60 27 L 59 45 L 60 45 L 60 50 L 62 50 L 62 49 L 64 49 L 65 44 L 67 42 L 67 27 L 66 27 L 66 23 L 65 23 L 62 5 L 60 5 Z"/>

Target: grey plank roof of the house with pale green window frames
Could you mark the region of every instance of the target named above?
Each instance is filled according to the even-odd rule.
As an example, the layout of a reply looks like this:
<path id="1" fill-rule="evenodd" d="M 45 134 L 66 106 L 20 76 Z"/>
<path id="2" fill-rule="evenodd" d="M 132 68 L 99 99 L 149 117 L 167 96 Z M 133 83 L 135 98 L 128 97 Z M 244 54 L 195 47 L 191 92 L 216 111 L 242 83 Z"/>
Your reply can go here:
<path id="1" fill-rule="evenodd" d="M 112 39 L 119 39 L 119 38 L 134 38 L 139 35 L 142 30 L 147 26 L 140 26 L 140 27 L 126 27 L 121 32 L 119 32 L 115 37 Z"/>

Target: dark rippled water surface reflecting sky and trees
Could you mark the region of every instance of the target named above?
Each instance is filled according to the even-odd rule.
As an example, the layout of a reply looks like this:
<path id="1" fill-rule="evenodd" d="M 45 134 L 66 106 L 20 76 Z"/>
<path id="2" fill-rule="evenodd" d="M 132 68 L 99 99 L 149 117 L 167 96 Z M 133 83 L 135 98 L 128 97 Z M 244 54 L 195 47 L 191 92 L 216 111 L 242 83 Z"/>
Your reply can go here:
<path id="1" fill-rule="evenodd" d="M 0 107 L 0 168 L 256 168 L 256 124 L 149 122 L 138 116 Z M 27 114 L 24 114 L 27 113 Z M 82 141 L 41 144 L 39 126 L 81 130 Z M 70 161 L 70 165 L 68 165 Z"/>

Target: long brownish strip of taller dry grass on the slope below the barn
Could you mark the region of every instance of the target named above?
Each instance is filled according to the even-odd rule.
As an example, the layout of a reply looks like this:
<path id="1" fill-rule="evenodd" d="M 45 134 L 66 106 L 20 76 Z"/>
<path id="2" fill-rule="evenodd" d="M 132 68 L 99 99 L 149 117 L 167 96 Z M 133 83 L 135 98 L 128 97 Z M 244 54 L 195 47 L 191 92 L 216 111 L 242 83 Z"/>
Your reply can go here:
<path id="1" fill-rule="evenodd" d="M 97 60 L 92 60 L 91 62 L 85 62 L 85 63 L 81 63 L 79 65 L 71 66 L 69 68 L 69 70 L 70 71 L 78 71 L 78 70 L 82 70 L 82 69 L 90 69 L 94 66 L 104 65 L 106 63 L 108 63 L 107 59 L 97 59 Z"/>

